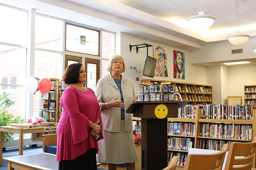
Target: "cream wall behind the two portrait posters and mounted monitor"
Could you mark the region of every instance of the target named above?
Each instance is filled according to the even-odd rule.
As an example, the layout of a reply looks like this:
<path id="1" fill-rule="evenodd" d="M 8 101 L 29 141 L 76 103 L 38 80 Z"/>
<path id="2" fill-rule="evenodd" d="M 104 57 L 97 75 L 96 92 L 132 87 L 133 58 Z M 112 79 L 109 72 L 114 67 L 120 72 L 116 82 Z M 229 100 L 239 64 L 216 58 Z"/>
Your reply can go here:
<path id="1" fill-rule="evenodd" d="M 154 76 L 154 78 L 150 78 L 147 76 L 141 76 L 141 79 L 156 79 L 156 80 L 168 80 L 168 81 L 176 81 L 176 82 L 183 82 L 183 83 L 197 83 L 197 84 L 206 84 L 206 67 L 190 64 L 192 62 L 192 58 L 190 56 L 190 51 L 175 48 L 170 45 L 164 44 L 162 42 L 152 41 L 144 38 L 140 38 L 137 36 L 133 36 L 126 33 L 121 33 L 121 52 L 120 54 L 124 57 L 126 62 L 126 71 L 124 76 L 129 77 L 132 79 L 134 84 L 134 89 L 137 94 L 139 94 L 139 85 L 141 81 L 136 81 L 136 77 L 139 75 L 130 67 L 137 67 L 140 68 L 140 64 L 145 61 L 147 55 L 147 48 L 139 48 L 138 54 L 136 53 L 136 47 L 132 47 L 132 52 L 130 52 L 130 44 L 137 45 L 147 43 L 153 45 L 153 47 L 148 47 L 148 55 L 154 56 L 154 49 L 156 46 L 161 46 L 165 49 L 167 54 L 167 71 L 168 77 L 158 77 Z M 173 50 L 178 50 L 185 53 L 185 80 L 180 80 L 173 78 Z M 117 54 L 118 55 L 118 54 Z M 144 63 L 141 64 L 141 67 Z"/>

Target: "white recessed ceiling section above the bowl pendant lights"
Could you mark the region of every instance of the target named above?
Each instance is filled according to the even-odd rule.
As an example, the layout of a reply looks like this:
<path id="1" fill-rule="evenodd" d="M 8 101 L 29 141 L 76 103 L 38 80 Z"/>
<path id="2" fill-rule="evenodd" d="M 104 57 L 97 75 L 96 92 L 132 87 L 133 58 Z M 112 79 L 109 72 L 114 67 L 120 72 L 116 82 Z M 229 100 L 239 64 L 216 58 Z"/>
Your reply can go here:
<path id="1" fill-rule="evenodd" d="M 137 10 L 193 30 L 187 18 L 198 15 L 199 9 L 205 15 L 216 17 L 214 24 L 207 30 L 193 31 L 208 34 L 234 33 L 236 31 L 235 0 L 115 0 Z M 256 24 L 255 0 L 238 0 L 240 31 L 254 30 Z M 201 4 L 201 6 L 200 6 Z M 251 26 L 251 28 L 247 28 Z M 245 28 L 246 27 L 246 28 Z M 226 30 L 226 31 L 224 31 Z M 215 33 L 212 33 L 215 32 Z"/>

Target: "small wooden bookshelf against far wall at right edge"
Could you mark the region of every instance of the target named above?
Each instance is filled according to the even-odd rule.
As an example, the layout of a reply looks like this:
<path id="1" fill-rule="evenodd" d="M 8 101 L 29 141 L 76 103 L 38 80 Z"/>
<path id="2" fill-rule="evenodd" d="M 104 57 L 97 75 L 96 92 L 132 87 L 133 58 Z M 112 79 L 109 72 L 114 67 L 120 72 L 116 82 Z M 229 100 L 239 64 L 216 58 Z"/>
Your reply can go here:
<path id="1" fill-rule="evenodd" d="M 256 105 L 256 85 L 244 85 L 244 104 Z"/>

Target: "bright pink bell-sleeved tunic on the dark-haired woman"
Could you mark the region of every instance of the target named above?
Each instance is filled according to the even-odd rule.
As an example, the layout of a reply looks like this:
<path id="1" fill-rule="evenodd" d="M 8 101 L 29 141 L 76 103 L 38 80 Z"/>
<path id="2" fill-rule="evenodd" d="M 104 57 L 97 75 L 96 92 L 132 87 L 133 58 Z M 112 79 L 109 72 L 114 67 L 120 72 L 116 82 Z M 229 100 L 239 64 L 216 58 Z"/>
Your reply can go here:
<path id="1" fill-rule="evenodd" d="M 84 154 L 88 149 L 99 150 L 98 142 L 90 135 L 89 120 L 95 123 L 100 118 L 100 135 L 102 135 L 101 112 L 99 102 L 92 91 L 86 92 L 68 87 L 60 100 L 61 118 L 57 126 L 56 160 L 72 160 Z"/>

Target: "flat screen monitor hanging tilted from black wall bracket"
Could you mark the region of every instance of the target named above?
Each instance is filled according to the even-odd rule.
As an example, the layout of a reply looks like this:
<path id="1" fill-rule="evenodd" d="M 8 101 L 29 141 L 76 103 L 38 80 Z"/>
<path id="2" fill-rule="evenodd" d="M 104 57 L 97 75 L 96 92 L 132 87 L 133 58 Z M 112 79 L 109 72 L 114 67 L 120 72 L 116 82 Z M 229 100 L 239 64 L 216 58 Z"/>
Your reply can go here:
<path id="1" fill-rule="evenodd" d="M 156 59 L 147 55 L 145 60 L 144 70 L 143 70 L 143 76 L 154 78 L 155 68 L 156 68 Z"/>

